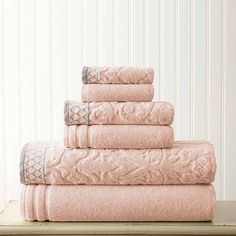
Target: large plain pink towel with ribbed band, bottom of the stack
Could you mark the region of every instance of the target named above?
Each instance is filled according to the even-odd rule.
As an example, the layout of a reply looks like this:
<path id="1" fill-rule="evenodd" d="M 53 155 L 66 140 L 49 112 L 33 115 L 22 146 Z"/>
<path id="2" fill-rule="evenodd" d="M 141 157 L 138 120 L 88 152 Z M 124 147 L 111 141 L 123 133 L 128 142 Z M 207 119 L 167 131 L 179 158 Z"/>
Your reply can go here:
<path id="1" fill-rule="evenodd" d="M 38 221 L 209 221 L 212 185 L 25 185 L 21 214 Z"/>

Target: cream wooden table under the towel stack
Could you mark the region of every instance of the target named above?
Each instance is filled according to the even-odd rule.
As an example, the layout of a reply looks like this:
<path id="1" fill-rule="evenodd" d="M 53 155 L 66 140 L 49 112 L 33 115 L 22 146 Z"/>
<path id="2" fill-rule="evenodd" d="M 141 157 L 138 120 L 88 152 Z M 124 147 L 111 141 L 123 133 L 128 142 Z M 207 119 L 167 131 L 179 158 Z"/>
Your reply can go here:
<path id="1" fill-rule="evenodd" d="M 236 201 L 218 202 L 213 222 L 26 222 L 19 203 L 0 213 L 0 235 L 236 235 Z"/>

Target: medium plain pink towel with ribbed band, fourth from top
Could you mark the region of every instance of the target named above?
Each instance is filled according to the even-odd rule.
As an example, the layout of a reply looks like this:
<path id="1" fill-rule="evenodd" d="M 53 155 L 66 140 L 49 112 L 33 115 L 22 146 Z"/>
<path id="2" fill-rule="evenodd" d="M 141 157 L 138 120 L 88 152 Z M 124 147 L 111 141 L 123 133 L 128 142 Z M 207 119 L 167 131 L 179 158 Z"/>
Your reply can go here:
<path id="1" fill-rule="evenodd" d="M 73 148 L 171 148 L 171 126 L 70 125 L 65 126 L 64 144 Z"/>

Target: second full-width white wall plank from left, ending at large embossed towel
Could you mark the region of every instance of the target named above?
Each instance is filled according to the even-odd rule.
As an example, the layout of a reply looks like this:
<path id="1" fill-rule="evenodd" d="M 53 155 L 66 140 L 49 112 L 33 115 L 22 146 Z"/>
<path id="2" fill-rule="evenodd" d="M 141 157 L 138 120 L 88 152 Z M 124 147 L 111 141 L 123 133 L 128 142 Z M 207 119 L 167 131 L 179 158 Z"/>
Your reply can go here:
<path id="1" fill-rule="evenodd" d="M 21 1 L 20 6 L 20 80 L 22 143 L 36 138 L 35 101 L 35 1 Z M 30 111 L 30 112 L 29 112 Z"/>

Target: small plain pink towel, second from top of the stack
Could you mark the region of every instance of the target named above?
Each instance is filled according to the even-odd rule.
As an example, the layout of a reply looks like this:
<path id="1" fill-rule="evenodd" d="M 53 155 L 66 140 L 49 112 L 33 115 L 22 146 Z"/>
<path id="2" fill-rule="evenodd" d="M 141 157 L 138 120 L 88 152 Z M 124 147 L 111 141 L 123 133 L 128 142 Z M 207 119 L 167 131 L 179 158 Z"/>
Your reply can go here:
<path id="1" fill-rule="evenodd" d="M 153 99 L 152 84 L 84 84 L 84 102 L 150 102 Z"/>

